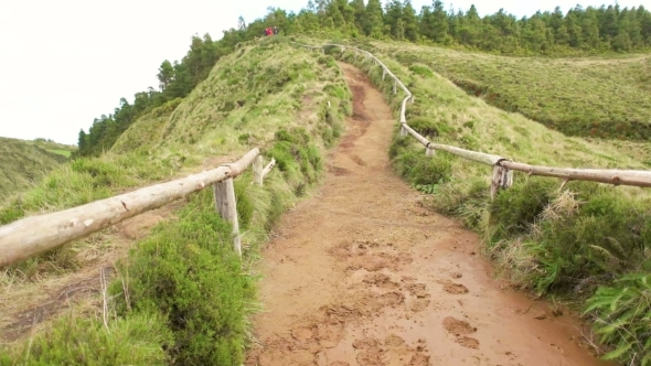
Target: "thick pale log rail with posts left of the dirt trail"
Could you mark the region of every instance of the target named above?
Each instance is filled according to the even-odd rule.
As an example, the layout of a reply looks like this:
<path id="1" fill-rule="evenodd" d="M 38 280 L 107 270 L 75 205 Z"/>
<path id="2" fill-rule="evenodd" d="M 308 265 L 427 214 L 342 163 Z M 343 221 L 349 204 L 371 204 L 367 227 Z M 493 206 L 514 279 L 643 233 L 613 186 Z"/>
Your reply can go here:
<path id="1" fill-rule="evenodd" d="M 211 184 L 216 211 L 233 225 L 233 246 L 242 256 L 233 179 L 242 174 L 252 163 L 254 163 L 254 183 L 262 185 L 276 161 L 271 160 L 266 168 L 263 168 L 263 157 L 255 148 L 238 161 L 210 171 L 0 226 L 0 268 L 161 207 Z"/>

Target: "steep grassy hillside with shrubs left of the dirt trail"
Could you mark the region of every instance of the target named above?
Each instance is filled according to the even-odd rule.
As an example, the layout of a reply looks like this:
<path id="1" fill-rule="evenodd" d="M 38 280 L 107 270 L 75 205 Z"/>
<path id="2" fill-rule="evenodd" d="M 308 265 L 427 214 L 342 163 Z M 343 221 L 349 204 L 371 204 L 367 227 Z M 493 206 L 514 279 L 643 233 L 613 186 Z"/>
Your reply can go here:
<path id="1" fill-rule="evenodd" d="M 4 347 L 0 364 L 241 364 L 255 310 L 250 265 L 274 220 L 320 176 L 321 149 L 351 111 L 341 75 L 332 57 L 281 39 L 243 44 L 186 98 L 131 125 L 113 151 L 55 170 L 2 207 L 0 219 L 11 222 L 233 161 L 253 147 L 278 161 L 264 187 L 250 184 L 248 171 L 235 181 L 243 261 L 233 255 L 231 228 L 215 214 L 210 190 L 193 195 L 118 266 L 107 326 L 102 309 L 72 311 L 32 340 Z M 71 271 L 87 265 L 85 254 L 110 250 L 110 241 L 81 240 L 10 268 L 0 287 L 20 292 L 21 281 L 57 278 L 40 265 Z M 64 255 L 73 257 L 66 268 Z"/>

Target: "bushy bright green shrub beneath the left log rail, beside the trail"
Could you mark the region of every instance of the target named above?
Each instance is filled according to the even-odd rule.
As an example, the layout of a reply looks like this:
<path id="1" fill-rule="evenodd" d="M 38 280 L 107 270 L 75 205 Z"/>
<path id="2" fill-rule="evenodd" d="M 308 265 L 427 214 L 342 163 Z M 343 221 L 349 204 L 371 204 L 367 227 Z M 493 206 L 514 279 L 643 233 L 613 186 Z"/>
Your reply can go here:
<path id="1" fill-rule="evenodd" d="M 113 289 L 122 315 L 160 314 L 173 333 L 167 348 L 178 365 L 235 365 L 244 359 L 246 304 L 254 281 L 242 273 L 231 225 L 215 213 L 211 192 L 191 198 L 179 219 L 159 226 L 130 254 L 128 297 Z"/>

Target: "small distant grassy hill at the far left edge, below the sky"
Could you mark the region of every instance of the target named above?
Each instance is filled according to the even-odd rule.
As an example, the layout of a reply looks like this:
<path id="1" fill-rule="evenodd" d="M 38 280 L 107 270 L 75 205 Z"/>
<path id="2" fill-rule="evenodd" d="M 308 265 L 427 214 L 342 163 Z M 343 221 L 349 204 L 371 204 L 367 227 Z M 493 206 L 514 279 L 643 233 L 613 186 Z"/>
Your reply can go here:
<path id="1" fill-rule="evenodd" d="M 45 173 L 67 161 L 74 147 L 38 139 L 0 137 L 0 202 L 35 184 Z"/>

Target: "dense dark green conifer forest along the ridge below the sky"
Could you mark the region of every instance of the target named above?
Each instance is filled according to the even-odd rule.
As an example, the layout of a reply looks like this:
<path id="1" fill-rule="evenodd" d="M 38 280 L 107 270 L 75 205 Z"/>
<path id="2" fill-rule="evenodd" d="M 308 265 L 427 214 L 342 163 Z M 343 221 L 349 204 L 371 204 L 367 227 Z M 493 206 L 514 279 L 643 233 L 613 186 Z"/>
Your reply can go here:
<path id="1" fill-rule="evenodd" d="M 163 61 L 159 67 L 158 89 L 126 98 L 113 114 L 93 121 L 86 133 L 79 132 L 76 157 L 98 155 L 110 149 L 118 137 L 140 116 L 166 104 L 178 105 L 205 79 L 220 57 L 233 52 L 238 42 L 262 36 L 265 28 L 276 25 L 280 34 L 328 34 L 343 37 L 393 39 L 425 44 L 519 55 L 566 55 L 578 53 L 643 52 L 651 49 L 651 12 L 643 7 L 618 4 L 600 8 L 577 6 L 566 13 L 536 12 L 517 19 L 500 10 L 479 17 L 471 6 L 467 11 L 446 10 L 441 1 L 416 11 L 409 0 L 310 0 L 299 13 L 269 8 L 264 19 L 223 32 L 218 41 L 209 34 L 192 37 L 188 54 L 180 61 Z"/>

